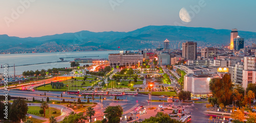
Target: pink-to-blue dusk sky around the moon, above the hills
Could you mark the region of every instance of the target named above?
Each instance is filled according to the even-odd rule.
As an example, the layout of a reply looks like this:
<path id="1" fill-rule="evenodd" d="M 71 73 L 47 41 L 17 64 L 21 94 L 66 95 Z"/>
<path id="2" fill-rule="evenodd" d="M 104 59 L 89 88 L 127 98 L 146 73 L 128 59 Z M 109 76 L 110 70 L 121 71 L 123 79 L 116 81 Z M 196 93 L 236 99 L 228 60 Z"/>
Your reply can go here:
<path id="1" fill-rule="evenodd" d="M 129 32 L 150 25 L 256 32 L 255 5 L 255 0 L 0 0 L 0 35 Z M 190 22 L 181 20 L 182 8 Z"/>

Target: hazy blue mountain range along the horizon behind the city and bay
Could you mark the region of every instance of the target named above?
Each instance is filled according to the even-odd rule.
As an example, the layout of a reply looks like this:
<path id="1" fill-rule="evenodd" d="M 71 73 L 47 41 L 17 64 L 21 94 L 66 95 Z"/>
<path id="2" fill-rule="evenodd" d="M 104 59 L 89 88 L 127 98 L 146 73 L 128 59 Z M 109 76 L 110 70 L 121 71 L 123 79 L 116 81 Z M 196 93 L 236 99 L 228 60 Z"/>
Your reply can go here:
<path id="1" fill-rule="evenodd" d="M 231 30 L 216 30 L 212 28 L 191 28 L 179 26 L 147 26 L 131 32 L 90 32 L 80 31 L 76 33 L 63 33 L 42 37 L 10 37 L 0 35 L 0 50 L 33 48 L 49 42 L 66 46 L 99 46 L 101 49 L 134 50 L 138 48 L 156 47 L 148 41 L 163 42 L 166 38 L 172 41 L 190 40 L 204 42 L 205 44 L 228 45 Z M 255 32 L 239 31 L 239 36 L 256 38 Z"/>

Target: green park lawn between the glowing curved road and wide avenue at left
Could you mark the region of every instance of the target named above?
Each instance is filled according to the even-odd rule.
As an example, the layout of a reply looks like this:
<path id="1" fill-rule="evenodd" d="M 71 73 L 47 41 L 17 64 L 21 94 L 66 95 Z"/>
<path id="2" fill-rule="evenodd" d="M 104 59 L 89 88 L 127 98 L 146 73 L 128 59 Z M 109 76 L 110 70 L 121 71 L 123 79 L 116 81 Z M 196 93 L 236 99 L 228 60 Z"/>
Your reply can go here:
<path id="1" fill-rule="evenodd" d="M 63 84 L 67 85 L 69 83 L 68 80 L 65 80 L 65 81 L 61 81 L 63 82 Z M 71 81 L 70 81 L 71 82 Z M 87 86 L 92 86 L 92 84 L 94 84 L 96 81 L 92 81 L 92 83 L 90 83 L 89 81 L 77 81 L 78 83 L 76 84 L 77 86 L 80 84 L 82 84 L 83 82 L 85 82 L 85 84 L 83 84 L 81 87 L 87 87 Z M 74 83 L 75 85 L 75 83 Z M 37 87 L 37 88 L 34 88 L 35 90 L 42 90 L 42 91 L 47 91 L 47 90 L 50 90 L 50 91 L 66 91 L 67 90 L 67 87 L 64 86 L 64 87 L 60 87 L 60 89 L 56 89 L 56 87 L 53 89 L 52 86 L 49 84 L 49 85 L 46 85 L 46 87 L 44 86 L 40 86 L 40 87 Z"/>

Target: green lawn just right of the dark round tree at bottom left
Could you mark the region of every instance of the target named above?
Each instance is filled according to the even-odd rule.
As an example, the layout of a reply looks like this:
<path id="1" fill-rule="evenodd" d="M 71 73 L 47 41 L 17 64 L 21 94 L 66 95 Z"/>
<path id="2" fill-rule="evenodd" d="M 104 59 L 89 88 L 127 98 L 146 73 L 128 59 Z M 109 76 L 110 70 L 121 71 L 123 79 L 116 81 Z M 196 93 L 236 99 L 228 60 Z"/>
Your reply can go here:
<path id="1" fill-rule="evenodd" d="M 52 105 L 53 106 L 53 105 Z M 53 106 L 54 107 L 54 106 Z M 51 116 L 59 116 L 60 115 L 60 110 L 56 109 L 56 108 L 53 108 L 51 107 Z M 50 108 L 50 107 L 49 107 Z M 46 109 L 46 118 L 49 118 L 49 108 Z M 36 116 L 41 116 L 41 117 L 44 117 L 44 114 L 39 114 L 39 110 L 40 110 L 40 107 L 38 106 L 29 106 L 29 110 L 28 110 L 28 113 L 29 114 L 33 114 L 33 115 L 36 115 Z M 53 114 L 52 112 L 56 111 L 57 113 L 56 114 Z"/>

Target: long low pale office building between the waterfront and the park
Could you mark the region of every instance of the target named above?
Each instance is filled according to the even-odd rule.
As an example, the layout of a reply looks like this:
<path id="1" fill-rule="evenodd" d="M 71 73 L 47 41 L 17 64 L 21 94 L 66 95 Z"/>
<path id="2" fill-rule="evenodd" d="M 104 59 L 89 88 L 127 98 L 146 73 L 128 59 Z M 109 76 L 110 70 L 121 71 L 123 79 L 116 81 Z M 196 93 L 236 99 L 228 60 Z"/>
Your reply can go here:
<path id="1" fill-rule="evenodd" d="M 133 65 L 142 65 L 143 54 L 139 53 L 123 53 L 120 51 L 119 54 L 109 54 L 109 62 L 111 67 L 115 66 L 133 66 Z"/>

